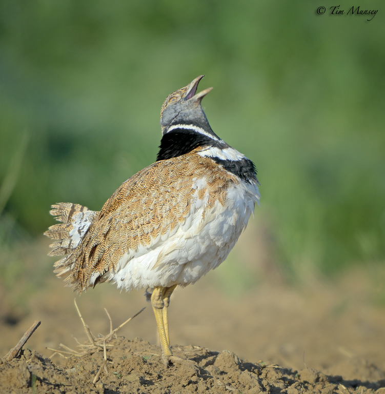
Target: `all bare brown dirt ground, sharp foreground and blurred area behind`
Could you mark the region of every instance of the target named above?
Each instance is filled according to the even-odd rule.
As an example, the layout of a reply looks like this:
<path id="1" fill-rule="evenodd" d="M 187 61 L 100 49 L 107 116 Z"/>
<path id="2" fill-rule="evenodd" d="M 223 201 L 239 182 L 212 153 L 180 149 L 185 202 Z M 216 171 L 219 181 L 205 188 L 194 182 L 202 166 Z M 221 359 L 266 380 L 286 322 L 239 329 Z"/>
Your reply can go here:
<path id="1" fill-rule="evenodd" d="M 236 268 L 237 263 L 224 264 Z M 47 347 L 78 349 L 76 340 L 87 341 L 75 294 L 53 274 L 22 311 L 0 303 L 0 357 L 34 320 L 42 321 L 22 354 L 0 361 L 0 393 L 385 394 L 385 309 L 374 302 L 366 272 L 352 272 L 334 284 L 309 279 L 306 287 L 275 278 L 240 291 L 220 269 L 174 292 L 171 342 L 174 353 L 191 362 L 169 368 L 161 363 L 155 319 L 143 292 L 120 293 L 103 284 L 76 296 L 95 337 L 110 331 L 104 308 L 115 328 L 147 307 L 108 342 L 106 370 L 103 349 L 82 358 L 50 358 L 54 352 Z"/>

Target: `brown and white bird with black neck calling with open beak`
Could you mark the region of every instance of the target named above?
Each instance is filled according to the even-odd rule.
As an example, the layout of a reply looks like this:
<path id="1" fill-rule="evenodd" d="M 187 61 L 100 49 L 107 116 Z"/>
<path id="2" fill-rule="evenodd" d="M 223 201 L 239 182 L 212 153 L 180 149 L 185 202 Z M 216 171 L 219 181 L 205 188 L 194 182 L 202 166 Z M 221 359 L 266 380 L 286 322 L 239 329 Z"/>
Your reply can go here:
<path id="1" fill-rule="evenodd" d="M 166 366 L 174 356 L 168 307 L 177 286 L 195 283 L 228 256 L 259 205 L 254 163 L 214 133 L 196 93 L 204 75 L 168 95 L 161 107 L 156 161 L 124 182 L 100 211 L 52 205 L 59 224 L 49 255 L 54 272 L 82 292 L 98 283 L 150 289 Z"/>

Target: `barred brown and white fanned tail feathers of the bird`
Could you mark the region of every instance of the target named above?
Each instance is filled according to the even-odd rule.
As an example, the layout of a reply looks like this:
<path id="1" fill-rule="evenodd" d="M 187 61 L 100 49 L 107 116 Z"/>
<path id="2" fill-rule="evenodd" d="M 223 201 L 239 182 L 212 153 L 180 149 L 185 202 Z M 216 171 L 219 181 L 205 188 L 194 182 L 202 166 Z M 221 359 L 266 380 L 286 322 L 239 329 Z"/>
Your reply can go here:
<path id="1" fill-rule="evenodd" d="M 58 203 L 52 205 L 52 208 L 51 215 L 56 216 L 55 219 L 63 224 L 55 224 L 44 233 L 47 237 L 58 240 L 50 245 L 52 250 L 48 255 L 69 254 L 82 241 L 97 212 L 71 203 Z"/>

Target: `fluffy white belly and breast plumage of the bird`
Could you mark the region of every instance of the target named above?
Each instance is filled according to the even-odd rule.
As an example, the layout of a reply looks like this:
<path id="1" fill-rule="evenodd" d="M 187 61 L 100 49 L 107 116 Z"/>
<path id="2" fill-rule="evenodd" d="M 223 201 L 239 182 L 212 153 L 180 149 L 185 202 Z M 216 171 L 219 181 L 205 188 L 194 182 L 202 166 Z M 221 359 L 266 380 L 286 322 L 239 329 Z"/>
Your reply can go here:
<path id="1" fill-rule="evenodd" d="M 151 247 L 140 247 L 135 253 L 126 253 L 115 271 L 109 272 L 108 280 L 126 290 L 186 286 L 222 263 L 245 229 L 254 203 L 259 203 L 258 188 L 247 183 L 231 186 L 225 206 L 216 201 L 208 208 L 208 194 L 200 200 L 197 197 L 199 188 L 205 185 L 205 180 L 195 181 L 196 192 L 184 223 L 167 239 L 159 239 Z"/>

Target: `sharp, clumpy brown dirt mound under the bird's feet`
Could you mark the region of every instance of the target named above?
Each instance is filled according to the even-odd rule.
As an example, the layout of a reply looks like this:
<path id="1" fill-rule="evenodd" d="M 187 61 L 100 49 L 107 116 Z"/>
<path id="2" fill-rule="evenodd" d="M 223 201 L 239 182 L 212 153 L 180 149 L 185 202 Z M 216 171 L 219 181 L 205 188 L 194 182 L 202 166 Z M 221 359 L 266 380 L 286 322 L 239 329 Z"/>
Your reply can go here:
<path id="1" fill-rule="evenodd" d="M 22 350 L 10 362 L 0 360 L 0 392 L 24 393 L 366 393 L 385 394 L 385 380 L 344 381 L 314 369 L 293 371 L 265 362 L 240 360 L 196 346 L 173 346 L 175 356 L 186 361 L 166 368 L 160 348 L 136 338 L 112 339 L 103 349 L 82 358 L 71 357 L 55 365 L 36 351 Z M 102 371 L 93 383 L 95 377 Z"/>

